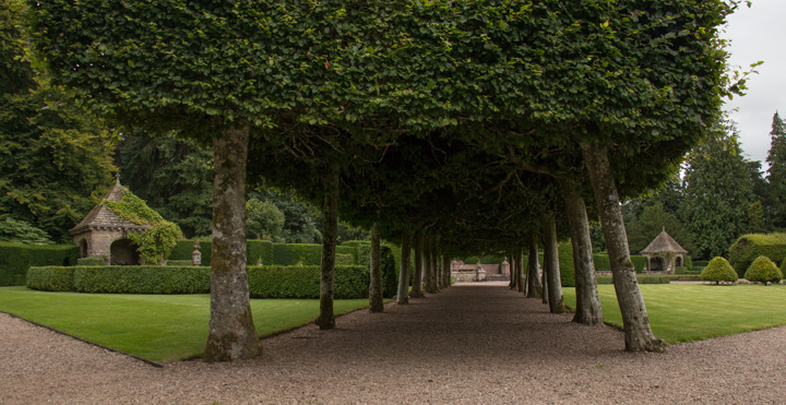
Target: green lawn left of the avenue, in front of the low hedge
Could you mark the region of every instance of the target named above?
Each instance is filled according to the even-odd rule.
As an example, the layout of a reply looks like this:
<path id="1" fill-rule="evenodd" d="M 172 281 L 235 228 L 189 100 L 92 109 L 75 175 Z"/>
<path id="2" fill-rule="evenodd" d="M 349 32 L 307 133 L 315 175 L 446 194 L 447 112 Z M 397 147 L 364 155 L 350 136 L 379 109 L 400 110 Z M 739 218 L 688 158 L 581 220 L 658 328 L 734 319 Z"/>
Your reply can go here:
<path id="1" fill-rule="evenodd" d="M 368 307 L 336 300 L 335 313 Z M 0 287 L 0 311 L 152 361 L 198 357 L 210 319 L 209 295 L 47 293 Z M 252 299 L 257 333 L 267 336 L 313 321 L 318 299 Z"/>

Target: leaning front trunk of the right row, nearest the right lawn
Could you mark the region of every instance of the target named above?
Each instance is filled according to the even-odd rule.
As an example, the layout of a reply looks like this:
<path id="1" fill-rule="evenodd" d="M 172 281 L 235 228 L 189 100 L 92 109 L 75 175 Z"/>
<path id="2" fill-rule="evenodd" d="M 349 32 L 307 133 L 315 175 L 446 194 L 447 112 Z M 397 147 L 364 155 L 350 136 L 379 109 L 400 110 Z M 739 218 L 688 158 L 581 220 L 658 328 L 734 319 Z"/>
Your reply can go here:
<path id="1" fill-rule="evenodd" d="M 583 143 L 582 152 L 590 174 L 595 201 L 600 212 L 600 224 L 606 237 L 606 249 L 611 263 L 615 291 L 622 314 L 626 350 L 663 352 L 665 344 L 656 338 L 650 327 L 644 298 L 639 289 L 635 267 L 630 260 L 628 235 L 622 219 L 617 184 L 605 147 Z"/>

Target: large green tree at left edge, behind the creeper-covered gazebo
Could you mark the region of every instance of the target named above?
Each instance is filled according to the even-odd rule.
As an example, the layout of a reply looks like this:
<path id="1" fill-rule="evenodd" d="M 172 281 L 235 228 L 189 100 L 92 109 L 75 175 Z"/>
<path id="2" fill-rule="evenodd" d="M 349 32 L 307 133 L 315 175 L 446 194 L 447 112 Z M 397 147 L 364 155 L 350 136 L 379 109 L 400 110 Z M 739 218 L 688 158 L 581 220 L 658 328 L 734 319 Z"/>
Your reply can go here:
<path id="1" fill-rule="evenodd" d="M 0 3 L 0 240 L 70 242 L 111 184 L 116 136 L 36 74 L 19 9 Z"/>

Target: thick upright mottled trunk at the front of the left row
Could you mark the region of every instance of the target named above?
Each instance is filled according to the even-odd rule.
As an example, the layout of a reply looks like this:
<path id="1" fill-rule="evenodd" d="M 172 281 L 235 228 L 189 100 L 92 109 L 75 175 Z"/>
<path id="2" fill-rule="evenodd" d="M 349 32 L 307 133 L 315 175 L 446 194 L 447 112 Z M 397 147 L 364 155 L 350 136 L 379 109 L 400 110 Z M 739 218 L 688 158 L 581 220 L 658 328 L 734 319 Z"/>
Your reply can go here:
<path id="1" fill-rule="evenodd" d="M 249 127 L 213 139 L 213 251 L 211 318 L 204 360 L 259 356 L 246 269 L 246 163 Z"/>

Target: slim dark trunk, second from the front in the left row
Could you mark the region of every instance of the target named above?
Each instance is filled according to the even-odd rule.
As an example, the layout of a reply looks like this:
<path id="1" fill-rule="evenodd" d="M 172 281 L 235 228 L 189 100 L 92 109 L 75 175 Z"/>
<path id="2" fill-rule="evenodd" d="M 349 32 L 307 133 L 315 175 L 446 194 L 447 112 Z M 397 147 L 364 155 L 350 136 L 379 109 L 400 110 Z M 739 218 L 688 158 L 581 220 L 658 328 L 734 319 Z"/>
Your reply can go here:
<path id="1" fill-rule="evenodd" d="M 324 182 L 322 216 L 322 261 L 320 271 L 320 315 L 314 323 L 321 330 L 335 327 L 333 313 L 333 276 L 335 274 L 335 246 L 338 236 L 338 164 L 331 163 Z"/>

